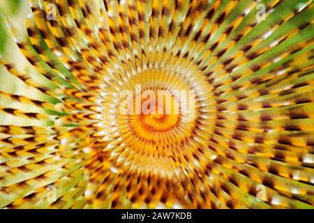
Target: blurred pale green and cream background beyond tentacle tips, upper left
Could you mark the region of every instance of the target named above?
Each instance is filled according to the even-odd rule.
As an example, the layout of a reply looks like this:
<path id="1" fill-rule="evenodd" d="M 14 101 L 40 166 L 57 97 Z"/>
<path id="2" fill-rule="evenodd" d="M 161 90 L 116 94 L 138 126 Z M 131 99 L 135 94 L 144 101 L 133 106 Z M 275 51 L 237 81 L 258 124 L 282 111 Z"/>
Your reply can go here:
<path id="1" fill-rule="evenodd" d="M 33 75 L 34 70 L 29 66 L 29 62 L 20 52 L 3 19 L 8 20 L 22 37 L 26 33 L 25 19 L 29 13 L 31 13 L 31 8 L 29 7 L 28 0 L 0 0 L 0 58 L 14 63 L 21 72 Z M 0 66 L 0 91 L 38 98 L 38 95 L 36 97 L 36 92 L 33 89 L 11 75 L 3 66 Z M 31 109 L 27 106 L 17 105 L 10 100 L 6 100 L 6 98 L 0 98 L 0 106 L 17 107 L 26 111 Z M 0 113 L 1 125 L 27 125 L 28 122 L 24 118 Z"/>

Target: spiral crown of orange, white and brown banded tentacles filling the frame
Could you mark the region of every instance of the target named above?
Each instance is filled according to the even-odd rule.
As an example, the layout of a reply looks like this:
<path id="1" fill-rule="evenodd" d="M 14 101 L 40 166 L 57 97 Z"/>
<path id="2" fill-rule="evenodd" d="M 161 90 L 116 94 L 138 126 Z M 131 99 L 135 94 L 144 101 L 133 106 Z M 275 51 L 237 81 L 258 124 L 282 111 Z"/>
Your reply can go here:
<path id="1" fill-rule="evenodd" d="M 39 108 L 1 107 L 31 124 L 0 126 L 0 207 L 313 208 L 313 1 L 29 2 L 44 78 L 1 63 L 43 99 L 0 93 Z M 136 86 L 193 118 L 123 114 Z"/>

